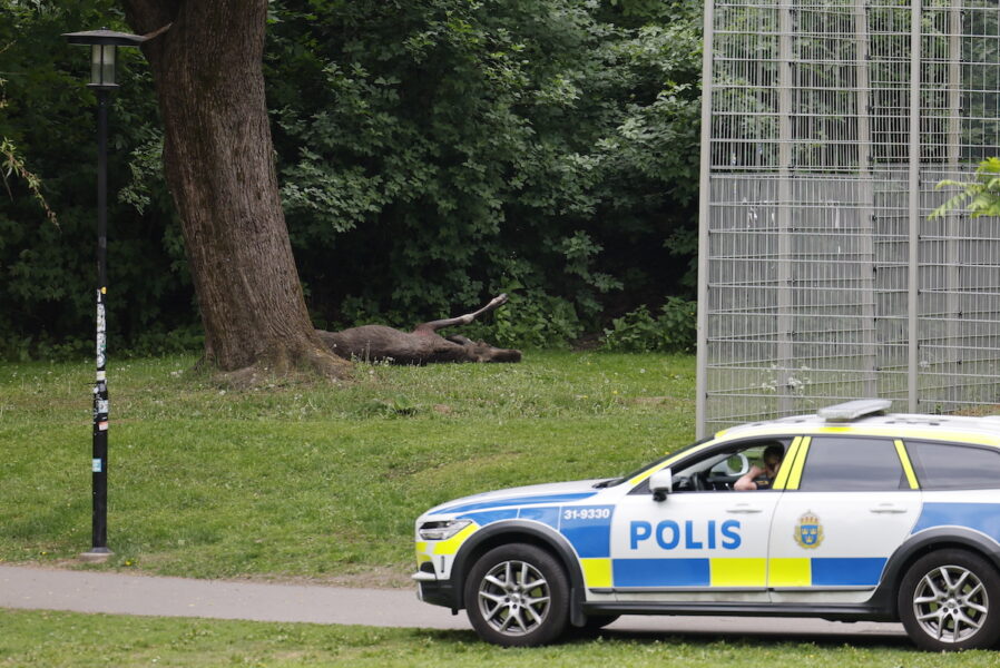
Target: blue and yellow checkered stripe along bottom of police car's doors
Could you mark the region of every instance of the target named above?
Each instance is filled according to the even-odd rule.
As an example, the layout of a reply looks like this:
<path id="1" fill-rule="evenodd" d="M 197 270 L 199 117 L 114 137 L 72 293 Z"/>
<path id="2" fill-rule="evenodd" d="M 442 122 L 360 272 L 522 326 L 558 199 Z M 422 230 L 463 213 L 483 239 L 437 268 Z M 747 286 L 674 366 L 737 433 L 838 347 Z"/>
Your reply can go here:
<path id="1" fill-rule="evenodd" d="M 580 560 L 588 588 L 618 587 L 874 587 L 881 558 Z"/>

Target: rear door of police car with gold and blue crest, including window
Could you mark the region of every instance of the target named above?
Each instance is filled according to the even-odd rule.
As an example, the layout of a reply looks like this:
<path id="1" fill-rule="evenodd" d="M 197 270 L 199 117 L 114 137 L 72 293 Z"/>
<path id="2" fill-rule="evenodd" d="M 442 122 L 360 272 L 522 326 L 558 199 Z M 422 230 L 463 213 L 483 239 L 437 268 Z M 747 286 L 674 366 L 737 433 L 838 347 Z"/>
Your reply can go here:
<path id="1" fill-rule="evenodd" d="M 774 602 L 862 602 L 920 515 L 921 493 L 900 441 L 802 439 L 771 531 Z"/>

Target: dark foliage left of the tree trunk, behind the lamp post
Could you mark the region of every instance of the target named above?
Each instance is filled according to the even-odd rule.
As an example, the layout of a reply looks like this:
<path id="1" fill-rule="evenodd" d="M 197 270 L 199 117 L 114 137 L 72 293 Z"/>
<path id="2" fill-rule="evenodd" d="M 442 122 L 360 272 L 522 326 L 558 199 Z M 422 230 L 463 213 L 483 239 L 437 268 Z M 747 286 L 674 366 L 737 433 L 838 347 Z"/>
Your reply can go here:
<path id="1" fill-rule="evenodd" d="M 9 196 L 0 196 L 0 355 L 79 356 L 94 346 L 96 100 L 86 86 L 89 53 L 68 46 L 61 33 L 99 26 L 127 30 L 110 0 L 0 0 L 0 71 L 7 79 L 0 136 L 38 179 L 10 178 Z M 197 317 L 159 168 L 144 184 L 149 202 L 141 213 L 117 197 L 116 188 L 131 180 L 130 151 L 156 136 L 158 126 L 141 56 L 119 49 L 119 61 L 122 85 L 111 96 L 109 114 L 112 354 L 122 342 L 133 347 L 156 342 L 151 352 Z"/>

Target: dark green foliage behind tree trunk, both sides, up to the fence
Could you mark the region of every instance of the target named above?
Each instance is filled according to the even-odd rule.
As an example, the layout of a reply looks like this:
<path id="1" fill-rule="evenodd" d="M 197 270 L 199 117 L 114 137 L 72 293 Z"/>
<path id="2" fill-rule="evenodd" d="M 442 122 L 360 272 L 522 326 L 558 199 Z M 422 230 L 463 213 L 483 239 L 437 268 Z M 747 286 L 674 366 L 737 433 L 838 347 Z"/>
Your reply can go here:
<path id="1" fill-rule="evenodd" d="M 0 354 L 85 350 L 94 95 L 60 33 L 127 27 L 111 0 L 0 0 L 0 136 L 40 179 L 0 197 Z M 514 286 L 481 335 L 550 345 L 690 294 L 699 17 L 695 0 L 271 2 L 268 105 L 316 325 L 406 327 Z M 193 285 L 148 69 L 119 53 L 109 340 L 176 350 L 197 341 Z"/>

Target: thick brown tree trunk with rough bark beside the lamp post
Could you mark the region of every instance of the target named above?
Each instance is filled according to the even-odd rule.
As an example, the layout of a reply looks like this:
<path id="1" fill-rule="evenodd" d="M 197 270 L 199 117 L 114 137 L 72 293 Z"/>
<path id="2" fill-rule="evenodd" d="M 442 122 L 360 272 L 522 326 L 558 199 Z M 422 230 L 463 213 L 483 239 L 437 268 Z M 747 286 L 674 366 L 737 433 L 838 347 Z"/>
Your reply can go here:
<path id="1" fill-rule="evenodd" d="M 204 362 L 254 382 L 341 377 L 313 328 L 275 175 L 262 59 L 267 0 L 124 0 L 164 119 L 167 185 L 205 326 Z"/>

